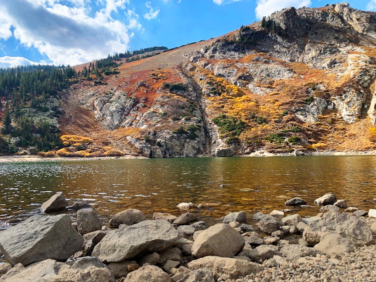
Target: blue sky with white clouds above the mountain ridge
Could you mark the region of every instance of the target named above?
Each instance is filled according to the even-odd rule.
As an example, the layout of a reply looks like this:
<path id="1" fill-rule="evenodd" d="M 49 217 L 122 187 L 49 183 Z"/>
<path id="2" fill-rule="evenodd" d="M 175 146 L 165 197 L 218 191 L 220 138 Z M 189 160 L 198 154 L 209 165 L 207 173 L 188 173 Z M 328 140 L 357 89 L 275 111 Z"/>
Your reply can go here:
<path id="1" fill-rule="evenodd" d="M 287 7 L 330 0 L 0 0 L 0 67 L 78 65 L 153 46 L 178 47 Z M 348 0 L 376 11 L 376 0 Z"/>

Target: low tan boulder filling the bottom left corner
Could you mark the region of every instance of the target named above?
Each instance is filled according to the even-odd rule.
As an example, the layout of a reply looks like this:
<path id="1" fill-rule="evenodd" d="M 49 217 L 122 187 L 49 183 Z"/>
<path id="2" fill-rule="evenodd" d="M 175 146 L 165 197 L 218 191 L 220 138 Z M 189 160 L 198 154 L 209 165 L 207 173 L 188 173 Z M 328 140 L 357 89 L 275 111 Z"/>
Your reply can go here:
<path id="1" fill-rule="evenodd" d="M 89 259 L 88 259 L 89 258 Z M 15 265 L 0 281 L 115 281 L 108 267 L 95 257 L 78 258 L 72 266 L 53 259 L 33 263 L 27 267 Z"/>

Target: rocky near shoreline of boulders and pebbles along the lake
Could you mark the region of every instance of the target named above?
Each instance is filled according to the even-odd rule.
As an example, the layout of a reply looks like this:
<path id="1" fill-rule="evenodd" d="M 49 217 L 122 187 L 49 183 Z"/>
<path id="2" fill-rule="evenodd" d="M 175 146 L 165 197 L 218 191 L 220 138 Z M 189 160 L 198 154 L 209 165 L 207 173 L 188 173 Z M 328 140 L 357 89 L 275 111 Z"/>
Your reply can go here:
<path id="1" fill-rule="evenodd" d="M 61 193 L 35 215 L 0 232 L 0 281 L 374 281 L 376 209 L 347 207 L 327 193 L 318 214 L 231 212 L 208 226 L 181 214 L 128 209 L 104 224 L 87 203 Z M 286 206 L 306 204 L 293 198 Z M 320 208 L 321 206 L 321 208 Z M 69 215 L 51 212 L 76 210 Z M 342 211 L 341 211 L 342 209 Z M 248 218 L 247 218 L 248 217 Z M 250 222 L 256 224 L 249 224 Z"/>

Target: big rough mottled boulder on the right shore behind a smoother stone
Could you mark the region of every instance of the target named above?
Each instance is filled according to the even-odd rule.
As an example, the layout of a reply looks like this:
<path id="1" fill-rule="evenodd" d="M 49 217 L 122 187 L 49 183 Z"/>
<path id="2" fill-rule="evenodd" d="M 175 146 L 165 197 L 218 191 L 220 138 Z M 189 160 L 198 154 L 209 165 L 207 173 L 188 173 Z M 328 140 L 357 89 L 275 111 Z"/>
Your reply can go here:
<path id="1" fill-rule="evenodd" d="M 307 232 L 332 232 L 351 240 L 355 245 L 369 245 L 373 243 L 373 235 L 370 227 L 358 216 L 351 216 L 336 210 L 326 212 L 322 219 L 309 223 L 303 232 L 306 239 Z M 318 243 L 318 242 L 316 242 Z"/>

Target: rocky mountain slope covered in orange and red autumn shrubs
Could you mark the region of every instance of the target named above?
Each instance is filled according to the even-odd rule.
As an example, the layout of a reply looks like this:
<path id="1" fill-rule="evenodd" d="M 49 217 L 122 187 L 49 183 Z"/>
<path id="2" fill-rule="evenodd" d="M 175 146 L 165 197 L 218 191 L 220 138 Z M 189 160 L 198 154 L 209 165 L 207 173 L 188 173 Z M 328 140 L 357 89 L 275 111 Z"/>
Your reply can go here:
<path id="1" fill-rule="evenodd" d="M 146 157 L 376 148 L 376 13 L 284 9 L 67 90 L 60 129 Z"/>

